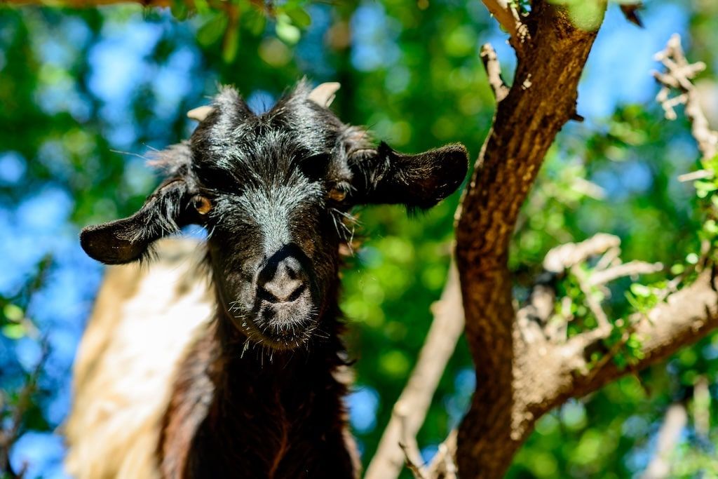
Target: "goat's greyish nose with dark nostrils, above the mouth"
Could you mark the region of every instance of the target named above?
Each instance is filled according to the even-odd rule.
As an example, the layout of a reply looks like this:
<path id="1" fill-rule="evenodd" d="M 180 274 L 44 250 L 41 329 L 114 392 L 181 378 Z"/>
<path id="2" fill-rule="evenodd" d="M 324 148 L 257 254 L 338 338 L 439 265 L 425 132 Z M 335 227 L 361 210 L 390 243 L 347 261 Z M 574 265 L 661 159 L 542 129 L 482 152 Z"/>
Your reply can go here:
<path id="1" fill-rule="evenodd" d="M 258 294 L 271 303 L 292 302 L 306 287 L 302 266 L 292 256 L 280 261 L 269 261 L 259 272 Z"/>

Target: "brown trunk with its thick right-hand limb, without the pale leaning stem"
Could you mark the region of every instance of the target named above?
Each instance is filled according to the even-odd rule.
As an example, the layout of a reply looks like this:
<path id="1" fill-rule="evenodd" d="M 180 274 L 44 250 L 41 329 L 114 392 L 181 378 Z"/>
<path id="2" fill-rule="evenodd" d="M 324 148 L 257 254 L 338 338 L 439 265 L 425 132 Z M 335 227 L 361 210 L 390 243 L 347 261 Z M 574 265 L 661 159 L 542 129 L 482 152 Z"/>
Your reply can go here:
<path id="1" fill-rule="evenodd" d="M 515 6 L 484 3 L 510 33 L 518 65 L 514 83 L 508 88 L 493 48 L 482 47 L 481 57 L 498 106 L 457 211 L 456 260 L 465 332 L 477 374 L 471 408 L 456 439 L 458 470 L 465 478 L 500 477 L 533 424 L 547 411 L 666 358 L 718 325 L 718 297 L 708 264 L 710 241 L 704 243 L 704 264 L 696 269 L 697 278 L 689 287 L 675 291 L 676 284 L 684 281 L 679 276 L 660 292 L 650 293 L 656 299 L 653 307 L 644 304 L 625 320 L 610 320 L 592 288 L 661 267 L 635 262 L 597 269 L 589 278 L 582 271 L 584 261 L 620 244 L 618 238 L 607 235 L 552 250 L 526 306 L 515 307 L 508 269 L 510 238 L 521 204 L 556 134 L 567 121 L 582 119 L 576 109 L 577 85 L 597 30 L 582 29 L 569 9 L 550 2 L 534 1 L 531 11 L 523 15 Z M 603 11 L 597 13 L 602 16 Z M 718 134 L 709 130 L 691 84 L 691 78 L 705 65 L 686 62 L 677 36 L 661 59 L 668 72 L 656 78 L 663 84 L 659 98 L 666 116 L 675 119 L 672 106 L 686 104 L 703 162 L 711 164 L 717 154 Z M 680 90 L 681 96 L 669 99 L 672 88 Z M 546 276 L 565 271 L 576 277 L 597 320 L 597 327 L 571 337 L 556 335 L 556 326 L 549 321 L 556 291 L 553 280 Z M 630 367 L 622 366 L 614 356 L 632 341 L 635 350 Z M 601 353 L 595 360 L 592 351 L 597 348 Z M 378 472 L 376 477 L 380 475 Z"/>

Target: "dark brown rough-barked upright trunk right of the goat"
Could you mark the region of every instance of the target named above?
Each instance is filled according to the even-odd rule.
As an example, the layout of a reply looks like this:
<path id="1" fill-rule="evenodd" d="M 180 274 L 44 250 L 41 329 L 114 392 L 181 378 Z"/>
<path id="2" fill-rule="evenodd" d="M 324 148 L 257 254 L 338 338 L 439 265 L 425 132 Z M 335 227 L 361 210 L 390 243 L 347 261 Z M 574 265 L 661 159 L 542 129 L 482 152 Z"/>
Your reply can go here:
<path id="1" fill-rule="evenodd" d="M 531 39 L 523 43 L 514 84 L 498 102 L 457 213 L 457 265 L 477 371 L 458 437 L 462 478 L 503 475 L 530 430 L 521 391 L 536 386 L 536 378 L 522 371 L 527 345 L 516 329 L 508 245 L 546 151 L 574 116 L 577 85 L 596 37 L 543 1 L 534 3 L 526 24 Z"/>

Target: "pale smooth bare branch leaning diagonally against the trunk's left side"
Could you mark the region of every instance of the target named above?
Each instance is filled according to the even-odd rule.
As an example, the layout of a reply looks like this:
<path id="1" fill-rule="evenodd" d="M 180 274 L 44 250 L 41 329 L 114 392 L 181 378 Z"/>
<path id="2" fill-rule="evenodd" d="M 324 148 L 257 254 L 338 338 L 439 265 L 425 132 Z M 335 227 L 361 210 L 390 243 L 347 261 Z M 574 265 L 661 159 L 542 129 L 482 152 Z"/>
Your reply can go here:
<path id="1" fill-rule="evenodd" d="M 404 452 L 399 446 L 401 434 L 406 437 L 416 436 L 432 403 L 439 379 L 464 330 L 459 276 L 453 261 L 442 297 L 432 310 L 434 321 L 426 335 L 419 359 L 394 405 L 394 414 L 384 429 L 365 479 L 398 478 L 404 467 Z"/>

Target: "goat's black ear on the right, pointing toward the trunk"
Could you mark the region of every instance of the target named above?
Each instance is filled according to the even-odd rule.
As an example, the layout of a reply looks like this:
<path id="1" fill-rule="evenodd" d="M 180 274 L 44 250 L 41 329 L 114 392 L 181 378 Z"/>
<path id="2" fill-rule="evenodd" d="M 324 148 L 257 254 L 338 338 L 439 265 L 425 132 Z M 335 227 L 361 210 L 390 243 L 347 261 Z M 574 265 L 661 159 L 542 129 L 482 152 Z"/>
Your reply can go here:
<path id="1" fill-rule="evenodd" d="M 357 203 L 403 203 L 431 208 L 456 191 L 466 176 L 468 157 L 462 144 L 448 144 L 419 154 L 403 154 L 383 141 L 376 149 L 352 154 Z"/>

